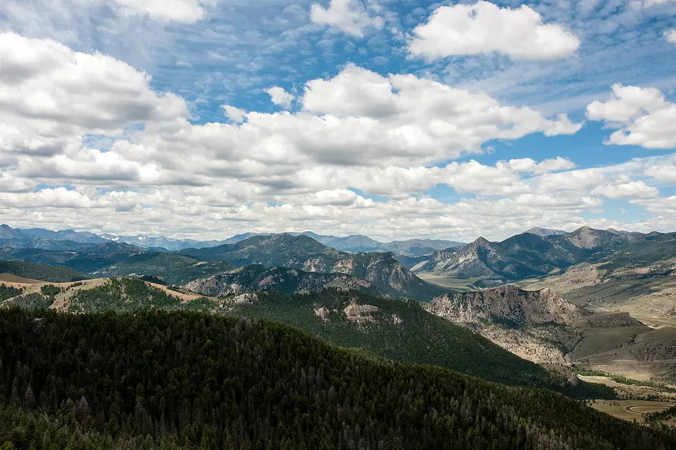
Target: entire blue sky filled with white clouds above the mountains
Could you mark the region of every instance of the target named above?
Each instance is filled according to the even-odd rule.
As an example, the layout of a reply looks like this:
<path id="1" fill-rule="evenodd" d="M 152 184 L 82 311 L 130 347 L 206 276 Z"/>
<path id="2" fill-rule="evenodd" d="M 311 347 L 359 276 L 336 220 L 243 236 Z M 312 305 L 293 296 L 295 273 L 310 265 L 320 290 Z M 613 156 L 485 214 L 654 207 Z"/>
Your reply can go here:
<path id="1" fill-rule="evenodd" d="M 676 231 L 676 0 L 3 0 L 0 215 Z"/>

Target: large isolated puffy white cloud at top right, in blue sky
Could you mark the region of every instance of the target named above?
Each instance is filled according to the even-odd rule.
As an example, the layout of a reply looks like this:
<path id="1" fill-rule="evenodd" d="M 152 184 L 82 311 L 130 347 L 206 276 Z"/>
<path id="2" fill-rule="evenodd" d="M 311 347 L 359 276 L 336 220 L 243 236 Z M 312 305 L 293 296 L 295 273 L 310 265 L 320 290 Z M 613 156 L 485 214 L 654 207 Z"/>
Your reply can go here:
<path id="1" fill-rule="evenodd" d="M 428 60 L 493 52 L 513 59 L 555 59 L 580 46 L 572 32 L 543 23 L 528 6 L 499 8 L 488 1 L 440 6 L 413 34 L 408 50 Z"/>

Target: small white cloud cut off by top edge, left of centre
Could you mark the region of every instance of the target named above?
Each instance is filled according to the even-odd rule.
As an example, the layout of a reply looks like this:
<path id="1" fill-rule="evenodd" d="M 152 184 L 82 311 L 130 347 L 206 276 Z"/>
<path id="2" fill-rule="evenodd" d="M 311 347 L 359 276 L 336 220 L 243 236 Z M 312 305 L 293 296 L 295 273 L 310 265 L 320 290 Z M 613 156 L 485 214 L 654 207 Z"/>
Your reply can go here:
<path id="1" fill-rule="evenodd" d="M 126 14 L 148 14 L 150 19 L 194 23 L 205 17 L 204 6 L 214 0 L 115 0 Z"/>

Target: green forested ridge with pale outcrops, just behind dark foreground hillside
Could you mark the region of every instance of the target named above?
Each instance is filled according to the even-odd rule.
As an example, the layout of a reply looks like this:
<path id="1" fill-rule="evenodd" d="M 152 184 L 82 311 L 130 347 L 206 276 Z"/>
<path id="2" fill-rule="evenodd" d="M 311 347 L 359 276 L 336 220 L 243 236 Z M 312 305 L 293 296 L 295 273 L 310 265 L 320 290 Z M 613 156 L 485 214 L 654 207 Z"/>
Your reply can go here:
<path id="1" fill-rule="evenodd" d="M 30 294 L 15 297 L 6 306 L 50 306 L 53 302 L 48 295 Z M 330 288 L 292 296 L 266 291 L 184 301 L 142 280 L 120 278 L 67 293 L 59 309 L 70 313 L 201 311 L 267 318 L 297 326 L 326 342 L 359 347 L 395 361 L 435 364 L 495 382 L 553 389 L 575 398 L 613 398 L 606 387 L 569 384 L 474 331 L 424 311 L 417 302 L 357 291 Z"/>

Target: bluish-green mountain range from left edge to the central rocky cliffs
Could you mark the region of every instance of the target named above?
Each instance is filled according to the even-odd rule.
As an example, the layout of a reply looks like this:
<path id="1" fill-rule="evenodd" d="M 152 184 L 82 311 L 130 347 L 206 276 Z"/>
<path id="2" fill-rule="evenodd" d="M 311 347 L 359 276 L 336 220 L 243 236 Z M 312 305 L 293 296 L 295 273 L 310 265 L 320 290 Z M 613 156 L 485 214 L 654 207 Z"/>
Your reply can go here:
<path id="1" fill-rule="evenodd" d="M 306 281 L 299 282 L 300 290 L 310 278 L 314 280 L 312 286 L 332 286 L 338 277 L 330 274 L 343 274 L 350 275 L 348 284 L 354 285 L 357 282 L 352 278 L 359 278 L 359 282 L 373 285 L 373 291 L 393 297 L 430 300 L 444 291 L 420 280 L 393 253 L 342 252 L 302 234 L 255 235 L 237 244 L 169 252 L 112 241 L 77 243 L 40 239 L 39 247 L 33 245 L 34 240 L 20 241 L 23 245 L 18 245 L 14 230 L 6 227 L 3 232 L 10 239 L 5 239 L 5 245 L 0 247 L 0 260 L 68 266 L 90 277 L 151 276 L 166 284 L 182 285 L 257 264 L 266 269 L 297 268 L 303 273 L 313 273 L 304 275 Z"/>

